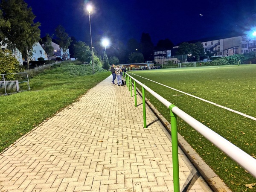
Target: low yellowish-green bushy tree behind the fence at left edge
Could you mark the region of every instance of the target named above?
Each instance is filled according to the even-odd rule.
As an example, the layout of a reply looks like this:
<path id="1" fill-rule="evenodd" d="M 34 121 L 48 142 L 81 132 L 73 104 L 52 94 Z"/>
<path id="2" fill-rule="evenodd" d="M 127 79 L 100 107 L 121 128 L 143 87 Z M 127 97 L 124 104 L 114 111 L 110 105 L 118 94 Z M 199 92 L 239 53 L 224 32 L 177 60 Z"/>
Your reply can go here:
<path id="1" fill-rule="evenodd" d="M 15 58 L 15 56 L 12 55 L 12 51 L 5 49 L 0 49 L 0 74 L 7 74 L 7 73 L 17 73 L 20 72 L 20 63 Z M 8 80 L 11 76 L 8 76 Z"/>

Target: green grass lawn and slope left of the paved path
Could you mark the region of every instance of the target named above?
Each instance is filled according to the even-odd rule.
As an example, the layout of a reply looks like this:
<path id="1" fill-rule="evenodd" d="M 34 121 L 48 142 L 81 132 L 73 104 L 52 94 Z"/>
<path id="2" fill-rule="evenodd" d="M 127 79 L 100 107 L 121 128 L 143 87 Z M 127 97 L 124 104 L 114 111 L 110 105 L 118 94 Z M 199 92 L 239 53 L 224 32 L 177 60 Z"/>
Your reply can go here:
<path id="1" fill-rule="evenodd" d="M 30 91 L 0 96 L 0 151 L 111 75 L 95 70 L 63 64 L 30 79 Z"/>

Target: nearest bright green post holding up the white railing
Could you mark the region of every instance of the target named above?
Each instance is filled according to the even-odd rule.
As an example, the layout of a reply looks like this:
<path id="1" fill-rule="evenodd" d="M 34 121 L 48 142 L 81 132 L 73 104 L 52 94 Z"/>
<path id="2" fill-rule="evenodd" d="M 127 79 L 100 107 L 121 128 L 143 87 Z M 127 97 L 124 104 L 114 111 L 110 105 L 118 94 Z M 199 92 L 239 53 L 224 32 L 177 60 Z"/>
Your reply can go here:
<path id="1" fill-rule="evenodd" d="M 178 131 L 177 131 L 177 115 L 172 112 L 175 105 L 170 105 L 171 114 L 171 131 L 172 131 L 172 169 L 173 169 L 173 189 L 174 192 L 180 191 L 179 179 L 179 157 L 178 157 Z"/>

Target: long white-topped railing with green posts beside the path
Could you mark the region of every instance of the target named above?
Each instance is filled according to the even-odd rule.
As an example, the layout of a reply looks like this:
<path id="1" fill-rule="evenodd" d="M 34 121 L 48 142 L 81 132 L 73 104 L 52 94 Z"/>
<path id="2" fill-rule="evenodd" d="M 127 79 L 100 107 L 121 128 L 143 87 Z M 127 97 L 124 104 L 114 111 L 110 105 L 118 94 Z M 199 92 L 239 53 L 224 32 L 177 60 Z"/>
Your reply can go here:
<path id="1" fill-rule="evenodd" d="M 183 119 L 188 125 L 198 131 L 202 136 L 209 140 L 212 144 L 218 147 L 221 151 L 227 154 L 232 160 L 238 163 L 243 167 L 247 172 L 249 172 L 253 177 L 256 178 L 256 159 L 251 157 L 249 154 L 242 151 L 236 145 L 233 145 L 228 140 L 221 137 L 219 134 L 212 131 L 207 126 L 203 125 L 201 122 L 194 119 L 192 116 L 189 116 L 184 111 L 177 108 L 171 102 L 164 99 L 162 96 L 155 93 L 145 84 L 141 83 L 137 79 L 130 76 L 128 73 L 126 75 L 126 82 L 129 91 L 132 94 L 132 79 L 134 80 L 134 98 L 135 98 L 135 107 L 137 107 L 137 97 L 136 97 L 136 84 L 140 84 L 142 87 L 142 100 L 143 100 L 143 124 L 144 128 L 147 128 L 146 122 L 146 108 L 145 108 L 145 90 L 151 93 L 156 99 L 158 99 L 163 105 L 170 109 L 171 116 L 171 132 L 172 132 L 172 162 L 173 162 L 173 183 L 174 183 L 174 192 L 180 191 L 180 182 L 179 182 L 179 161 L 178 161 L 178 137 L 177 137 L 177 116 Z"/>

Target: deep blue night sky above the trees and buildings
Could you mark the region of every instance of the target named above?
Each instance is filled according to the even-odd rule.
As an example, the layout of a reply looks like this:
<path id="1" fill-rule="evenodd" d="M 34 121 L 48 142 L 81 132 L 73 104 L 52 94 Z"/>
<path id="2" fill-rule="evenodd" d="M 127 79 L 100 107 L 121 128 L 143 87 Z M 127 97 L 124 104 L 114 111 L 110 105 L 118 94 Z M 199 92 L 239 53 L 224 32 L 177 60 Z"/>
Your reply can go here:
<path id="1" fill-rule="evenodd" d="M 41 37 L 61 24 L 77 41 L 90 42 L 88 0 L 24 0 L 41 23 Z M 255 0 L 93 0 L 90 15 L 93 43 L 112 44 L 149 33 L 154 45 L 169 38 L 174 44 L 215 36 L 246 33 L 256 25 Z"/>

